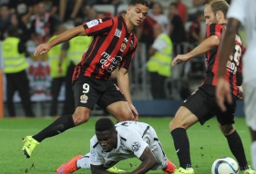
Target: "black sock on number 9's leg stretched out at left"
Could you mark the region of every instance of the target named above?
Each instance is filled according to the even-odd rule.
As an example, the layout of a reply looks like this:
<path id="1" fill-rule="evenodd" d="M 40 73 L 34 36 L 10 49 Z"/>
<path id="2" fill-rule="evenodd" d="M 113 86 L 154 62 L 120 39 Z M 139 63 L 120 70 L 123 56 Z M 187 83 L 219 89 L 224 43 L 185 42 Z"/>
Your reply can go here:
<path id="1" fill-rule="evenodd" d="M 33 139 L 37 140 L 38 142 L 41 142 L 42 140 L 45 140 L 48 137 L 53 137 L 73 127 L 75 127 L 75 123 L 73 121 L 72 115 L 62 116 L 56 119 L 56 121 L 51 123 L 44 130 L 34 135 Z"/>

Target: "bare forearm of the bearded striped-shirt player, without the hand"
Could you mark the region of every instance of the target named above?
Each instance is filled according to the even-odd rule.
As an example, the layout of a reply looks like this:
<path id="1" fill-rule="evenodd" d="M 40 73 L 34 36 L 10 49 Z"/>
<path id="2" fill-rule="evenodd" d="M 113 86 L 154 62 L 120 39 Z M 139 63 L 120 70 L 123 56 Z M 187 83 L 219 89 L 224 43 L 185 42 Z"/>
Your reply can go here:
<path id="1" fill-rule="evenodd" d="M 200 45 L 194 48 L 191 52 L 189 52 L 189 57 L 193 58 L 202 53 L 207 53 L 212 50 L 214 47 L 220 44 L 220 40 L 215 35 L 210 36 L 209 38 L 205 39 Z"/>

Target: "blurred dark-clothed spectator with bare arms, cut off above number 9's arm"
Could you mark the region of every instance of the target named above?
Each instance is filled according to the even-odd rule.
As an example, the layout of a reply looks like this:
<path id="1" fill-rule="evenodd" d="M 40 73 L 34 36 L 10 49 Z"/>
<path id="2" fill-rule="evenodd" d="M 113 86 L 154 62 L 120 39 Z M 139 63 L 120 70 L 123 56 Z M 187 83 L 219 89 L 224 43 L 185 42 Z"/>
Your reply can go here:
<path id="1" fill-rule="evenodd" d="M 76 17 L 82 17 L 83 0 L 60 0 L 59 17 L 63 22 L 73 21 Z"/>

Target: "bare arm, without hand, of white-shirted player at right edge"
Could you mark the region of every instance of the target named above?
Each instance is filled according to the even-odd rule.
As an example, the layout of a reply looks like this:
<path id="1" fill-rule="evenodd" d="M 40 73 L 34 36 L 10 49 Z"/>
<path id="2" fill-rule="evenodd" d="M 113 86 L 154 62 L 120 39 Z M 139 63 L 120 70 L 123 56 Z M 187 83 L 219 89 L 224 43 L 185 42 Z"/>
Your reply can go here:
<path id="1" fill-rule="evenodd" d="M 234 48 L 236 32 L 227 27 L 226 33 L 220 43 L 220 60 L 218 77 L 224 77 L 226 73 L 226 64 L 230 59 L 230 53 Z"/>

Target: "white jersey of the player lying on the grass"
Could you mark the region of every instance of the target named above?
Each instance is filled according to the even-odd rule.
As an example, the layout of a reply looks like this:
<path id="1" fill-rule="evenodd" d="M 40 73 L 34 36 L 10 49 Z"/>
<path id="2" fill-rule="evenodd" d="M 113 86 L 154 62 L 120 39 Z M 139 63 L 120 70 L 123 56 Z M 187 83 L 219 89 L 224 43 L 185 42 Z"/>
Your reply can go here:
<path id="1" fill-rule="evenodd" d="M 161 148 L 156 131 L 147 123 L 138 121 L 123 121 L 116 124 L 118 131 L 118 146 L 110 152 L 102 150 L 97 142 L 96 135 L 90 140 L 90 163 L 92 165 L 104 165 L 110 168 L 119 160 L 139 157 L 146 147 L 149 147 L 158 165 L 153 169 L 164 169 L 167 167 L 167 158 Z"/>

